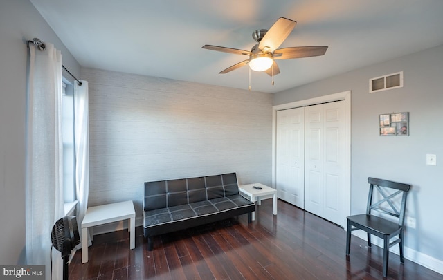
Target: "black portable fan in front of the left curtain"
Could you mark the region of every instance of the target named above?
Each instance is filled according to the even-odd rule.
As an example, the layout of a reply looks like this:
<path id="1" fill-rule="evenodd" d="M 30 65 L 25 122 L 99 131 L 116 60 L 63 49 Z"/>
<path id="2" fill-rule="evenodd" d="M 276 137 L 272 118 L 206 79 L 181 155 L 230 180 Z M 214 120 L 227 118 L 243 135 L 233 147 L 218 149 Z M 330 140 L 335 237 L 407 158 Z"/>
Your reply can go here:
<path id="1" fill-rule="evenodd" d="M 63 279 L 68 279 L 68 262 L 71 250 L 80 244 L 78 234 L 77 218 L 75 216 L 64 216 L 53 226 L 51 241 L 55 249 L 62 252 Z"/>

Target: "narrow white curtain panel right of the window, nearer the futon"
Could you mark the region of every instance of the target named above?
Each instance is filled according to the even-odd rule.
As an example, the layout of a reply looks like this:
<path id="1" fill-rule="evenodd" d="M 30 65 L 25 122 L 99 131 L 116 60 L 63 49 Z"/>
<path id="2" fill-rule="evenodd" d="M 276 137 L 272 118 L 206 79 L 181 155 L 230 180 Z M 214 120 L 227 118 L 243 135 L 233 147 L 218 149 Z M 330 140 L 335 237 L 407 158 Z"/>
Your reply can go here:
<path id="1" fill-rule="evenodd" d="M 88 82 L 74 82 L 75 192 L 78 200 L 77 222 L 82 234 L 82 221 L 89 194 L 89 96 Z M 88 236 L 88 245 L 91 239 Z M 79 245 L 81 248 L 81 244 Z"/>

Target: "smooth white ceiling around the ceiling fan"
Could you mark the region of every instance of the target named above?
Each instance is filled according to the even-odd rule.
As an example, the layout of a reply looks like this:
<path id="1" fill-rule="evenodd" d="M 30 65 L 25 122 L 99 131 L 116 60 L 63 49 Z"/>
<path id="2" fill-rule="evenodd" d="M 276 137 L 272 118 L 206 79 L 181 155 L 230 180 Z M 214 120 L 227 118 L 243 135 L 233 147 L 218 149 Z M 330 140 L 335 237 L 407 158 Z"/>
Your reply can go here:
<path id="1" fill-rule="evenodd" d="M 279 60 L 274 86 L 252 71 L 253 91 L 268 93 L 443 44 L 442 0 L 31 2 L 81 66 L 243 89 L 248 66 L 218 73 L 244 56 L 201 46 L 250 50 L 254 30 L 293 19 L 297 26 L 280 48 L 329 48 L 320 57 Z"/>

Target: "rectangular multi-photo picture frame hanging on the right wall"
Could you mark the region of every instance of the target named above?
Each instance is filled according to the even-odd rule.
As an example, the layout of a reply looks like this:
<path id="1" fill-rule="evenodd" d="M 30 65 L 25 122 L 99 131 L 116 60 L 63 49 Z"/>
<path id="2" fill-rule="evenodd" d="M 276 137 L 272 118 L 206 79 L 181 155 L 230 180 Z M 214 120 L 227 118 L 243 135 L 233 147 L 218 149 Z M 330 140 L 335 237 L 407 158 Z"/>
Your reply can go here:
<path id="1" fill-rule="evenodd" d="M 380 136 L 409 136 L 409 113 L 386 113 L 379 115 Z"/>

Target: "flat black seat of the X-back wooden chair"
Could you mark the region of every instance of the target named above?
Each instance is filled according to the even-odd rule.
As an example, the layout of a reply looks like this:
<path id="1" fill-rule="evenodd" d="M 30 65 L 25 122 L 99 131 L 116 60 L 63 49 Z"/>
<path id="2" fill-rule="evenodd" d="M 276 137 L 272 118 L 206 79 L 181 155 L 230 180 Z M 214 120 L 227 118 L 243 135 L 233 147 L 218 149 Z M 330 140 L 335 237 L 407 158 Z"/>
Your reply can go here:
<path id="1" fill-rule="evenodd" d="M 401 229 L 398 223 L 367 214 L 348 216 L 347 220 L 358 224 L 359 228 L 365 227 L 366 230 L 372 230 L 371 233 L 376 236 L 396 234 Z"/>

